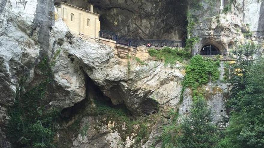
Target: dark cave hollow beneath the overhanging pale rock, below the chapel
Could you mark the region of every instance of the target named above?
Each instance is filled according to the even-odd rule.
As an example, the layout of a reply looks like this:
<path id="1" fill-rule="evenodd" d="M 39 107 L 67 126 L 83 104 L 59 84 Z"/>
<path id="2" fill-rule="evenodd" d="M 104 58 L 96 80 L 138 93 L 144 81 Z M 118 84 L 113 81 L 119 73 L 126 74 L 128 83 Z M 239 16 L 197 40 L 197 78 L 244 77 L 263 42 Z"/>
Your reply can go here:
<path id="1" fill-rule="evenodd" d="M 85 86 L 86 97 L 73 106 L 64 108 L 60 113 L 57 122 L 60 127 L 58 131 L 60 135 L 58 148 L 72 146 L 72 139 L 82 130 L 81 126 L 87 118 L 100 120 L 98 124 L 104 123 L 106 125 L 110 120 L 119 122 L 120 116 L 126 116 L 126 118 L 131 121 L 134 120 L 134 116 L 132 116 L 131 112 L 124 104 L 113 105 L 110 98 L 104 95 L 99 86 L 97 86 L 88 75 L 85 76 Z M 98 112 L 98 110 L 103 112 Z M 110 115 L 113 113 L 115 113 L 116 116 Z M 120 118 L 122 119 L 124 117 Z M 87 122 L 85 124 L 90 126 L 94 123 Z M 121 122 L 119 124 L 121 125 Z"/>

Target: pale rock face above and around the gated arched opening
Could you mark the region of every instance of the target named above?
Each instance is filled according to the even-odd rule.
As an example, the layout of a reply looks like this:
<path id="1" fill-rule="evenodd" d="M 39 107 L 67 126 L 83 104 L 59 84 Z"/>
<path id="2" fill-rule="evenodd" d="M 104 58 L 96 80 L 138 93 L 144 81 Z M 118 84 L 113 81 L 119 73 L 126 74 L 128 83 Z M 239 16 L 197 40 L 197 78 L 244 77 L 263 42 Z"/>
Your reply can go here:
<path id="1" fill-rule="evenodd" d="M 210 5 L 214 9 L 208 9 Z M 202 1 L 202 6 L 191 5 L 190 10 L 196 20 L 190 35 L 199 36 L 193 55 L 199 53 L 206 44 L 214 45 L 220 52 L 225 52 L 230 51 L 235 42 L 253 40 L 263 48 L 263 1 L 225 1 L 222 5 L 219 5 L 219 1 Z"/>

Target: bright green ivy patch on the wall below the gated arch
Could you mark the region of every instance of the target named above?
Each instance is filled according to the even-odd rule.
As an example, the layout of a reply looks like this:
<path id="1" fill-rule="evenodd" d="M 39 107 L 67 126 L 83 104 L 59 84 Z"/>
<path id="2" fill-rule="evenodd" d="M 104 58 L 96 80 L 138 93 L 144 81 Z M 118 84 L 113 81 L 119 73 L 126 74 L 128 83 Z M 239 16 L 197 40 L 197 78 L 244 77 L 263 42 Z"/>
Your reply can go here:
<path id="1" fill-rule="evenodd" d="M 208 83 L 209 80 L 216 81 L 219 79 L 219 66 L 219 60 L 203 59 L 200 55 L 192 57 L 190 64 L 186 66 L 186 75 L 182 82 L 183 91 L 185 88 L 190 87 L 195 99 L 195 96 L 199 94 L 197 90 L 199 86 Z"/>

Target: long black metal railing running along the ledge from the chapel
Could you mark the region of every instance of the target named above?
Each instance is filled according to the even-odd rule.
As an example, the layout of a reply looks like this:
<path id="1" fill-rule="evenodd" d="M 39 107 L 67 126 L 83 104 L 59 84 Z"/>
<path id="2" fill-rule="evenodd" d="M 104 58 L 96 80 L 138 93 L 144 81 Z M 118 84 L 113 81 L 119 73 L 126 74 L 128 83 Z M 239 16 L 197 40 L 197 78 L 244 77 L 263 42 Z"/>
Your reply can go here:
<path id="1" fill-rule="evenodd" d="M 119 45 L 135 47 L 135 48 L 139 46 L 157 47 L 157 48 L 162 48 L 164 46 L 184 47 L 184 42 L 182 41 L 170 41 L 170 40 L 158 40 L 158 39 L 134 40 L 134 39 L 128 39 L 117 36 L 116 33 L 106 30 L 100 30 L 99 37 L 116 41 L 116 44 Z"/>

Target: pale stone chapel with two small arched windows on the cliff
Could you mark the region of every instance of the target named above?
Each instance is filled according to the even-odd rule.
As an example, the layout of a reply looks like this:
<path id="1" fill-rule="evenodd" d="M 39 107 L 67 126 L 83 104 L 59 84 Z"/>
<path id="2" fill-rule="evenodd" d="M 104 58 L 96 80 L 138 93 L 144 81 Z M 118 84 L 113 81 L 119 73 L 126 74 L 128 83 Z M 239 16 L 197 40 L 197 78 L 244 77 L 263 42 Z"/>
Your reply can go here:
<path id="1" fill-rule="evenodd" d="M 99 37 L 100 15 L 93 12 L 93 5 L 90 5 L 90 11 L 64 2 L 55 7 L 73 34 L 92 39 Z"/>

